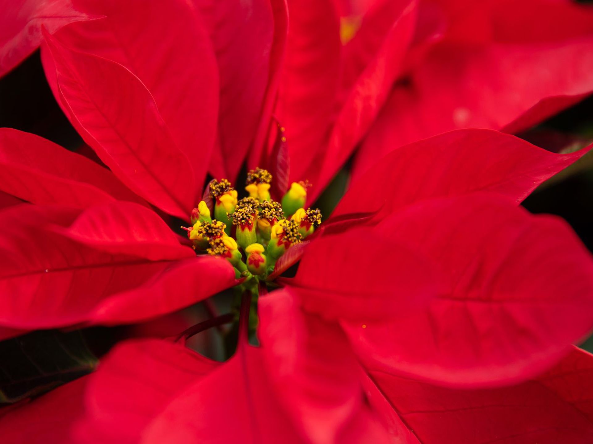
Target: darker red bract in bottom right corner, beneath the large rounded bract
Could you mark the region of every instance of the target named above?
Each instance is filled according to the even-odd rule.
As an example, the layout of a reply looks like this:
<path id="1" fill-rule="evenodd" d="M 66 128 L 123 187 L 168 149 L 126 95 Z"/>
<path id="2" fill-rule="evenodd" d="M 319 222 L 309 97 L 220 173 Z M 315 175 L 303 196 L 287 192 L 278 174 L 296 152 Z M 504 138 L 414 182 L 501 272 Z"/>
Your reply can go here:
<path id="1" fill-rule="evenodd" d="M 404 444 L 586 444 L 593 441 L 593 356 L 575 349 L 541 378 L 451 390 L 371 371 L 372 405 Z"/>

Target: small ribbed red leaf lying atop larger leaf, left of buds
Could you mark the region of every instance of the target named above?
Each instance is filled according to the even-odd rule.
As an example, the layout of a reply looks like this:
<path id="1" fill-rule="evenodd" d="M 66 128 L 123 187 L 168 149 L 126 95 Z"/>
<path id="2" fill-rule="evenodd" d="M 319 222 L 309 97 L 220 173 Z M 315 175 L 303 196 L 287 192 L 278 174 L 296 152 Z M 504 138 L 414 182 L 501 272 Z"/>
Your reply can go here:
<path id="1" fill-rule="evenodd" d="M 154 211 L 131 202 L 113 202 L 83 211 L 66 236 L 97 250 L 150 260 L 195 257 Z"/>

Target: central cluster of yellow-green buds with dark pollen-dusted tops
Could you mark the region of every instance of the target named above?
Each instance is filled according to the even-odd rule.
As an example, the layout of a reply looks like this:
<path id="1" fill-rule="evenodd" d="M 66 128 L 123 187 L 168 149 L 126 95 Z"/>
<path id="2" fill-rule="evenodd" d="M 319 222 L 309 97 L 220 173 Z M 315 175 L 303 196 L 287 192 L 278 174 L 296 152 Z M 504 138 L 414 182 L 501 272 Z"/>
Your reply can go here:
<path id="1" fill-rule="evenodd" d="M 321 212 L 304 208 L 308 182 L 294 182 L 281 204 L 270 197 L 271 182 L 267 170 L 250 170 L 249 195 L 238 200 L 231 182 L 214 179 L 209 185 L 213 208 L 201 201 L 192 211 L 193 227 L 183 227 L 196 252 L 226 258 L 237 275 L 272 273 L 286 250 L 320 226 Z"/>

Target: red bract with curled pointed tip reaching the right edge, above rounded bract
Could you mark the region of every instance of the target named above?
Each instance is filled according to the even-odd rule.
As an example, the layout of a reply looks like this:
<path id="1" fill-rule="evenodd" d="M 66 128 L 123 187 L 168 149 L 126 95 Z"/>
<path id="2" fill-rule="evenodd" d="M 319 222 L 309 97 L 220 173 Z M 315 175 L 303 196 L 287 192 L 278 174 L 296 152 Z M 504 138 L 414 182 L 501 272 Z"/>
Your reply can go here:
<path id="1" fill-rule="evenodd" d="M 489 191 L 517 203 L 588 152 L 559 155 L 492 130 L 451 131 L 399 147 L 355 179 L 330 219 L 433 198 Z M 380 217 L 377 217 L 379 219 Z"/>

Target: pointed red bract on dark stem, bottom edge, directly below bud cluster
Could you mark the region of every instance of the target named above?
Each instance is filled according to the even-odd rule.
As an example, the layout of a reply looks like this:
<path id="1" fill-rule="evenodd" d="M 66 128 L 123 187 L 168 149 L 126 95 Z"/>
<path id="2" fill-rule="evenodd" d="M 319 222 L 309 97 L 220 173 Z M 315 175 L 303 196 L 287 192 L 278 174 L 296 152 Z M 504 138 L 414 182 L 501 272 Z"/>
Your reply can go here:
<path id="1" fill-rule="evenodd" d="M 142 443 L 301 444 L 264 369 L 262 350 L 251 346 L 238 350 L 215 371 L 178 392 L 145 430 Z"/>

